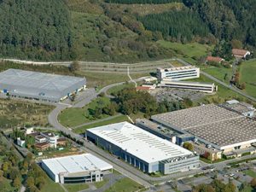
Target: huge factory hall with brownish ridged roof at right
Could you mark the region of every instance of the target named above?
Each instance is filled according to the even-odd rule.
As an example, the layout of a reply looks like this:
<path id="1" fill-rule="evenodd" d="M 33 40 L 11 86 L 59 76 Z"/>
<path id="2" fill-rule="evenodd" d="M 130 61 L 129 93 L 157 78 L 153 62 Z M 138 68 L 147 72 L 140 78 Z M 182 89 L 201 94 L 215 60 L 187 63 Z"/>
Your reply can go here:
<path id="1" fill-rule="evenodd" d="M 224 152 L 248 148 L 256 142 L 256 121 L 215 104 L 156 114 L 155 122 L 190 133 Z"/>

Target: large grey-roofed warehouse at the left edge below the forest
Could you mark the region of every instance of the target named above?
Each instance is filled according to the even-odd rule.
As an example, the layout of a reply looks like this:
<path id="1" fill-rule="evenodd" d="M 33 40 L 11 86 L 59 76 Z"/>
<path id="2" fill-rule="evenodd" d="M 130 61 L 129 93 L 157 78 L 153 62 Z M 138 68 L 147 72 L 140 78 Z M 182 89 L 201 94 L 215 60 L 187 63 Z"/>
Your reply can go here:
<path id="1" fill-rule="evenodd" d="M 20 69 L 0 73 L 0 92 L 9 96 L 59 102 L 79 90 L 84 90 L 86 79 Z"/>

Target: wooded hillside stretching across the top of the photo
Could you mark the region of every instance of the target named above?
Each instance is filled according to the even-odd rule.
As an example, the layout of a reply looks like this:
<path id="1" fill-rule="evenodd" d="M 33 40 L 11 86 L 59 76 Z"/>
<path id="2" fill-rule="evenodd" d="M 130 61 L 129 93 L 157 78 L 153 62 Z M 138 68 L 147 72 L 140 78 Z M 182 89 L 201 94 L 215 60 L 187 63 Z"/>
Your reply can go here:
<path id="1" fill-rule="evenodd" d="M 180 55 L 159 41 L 235 41 L 254 50 L 255 8 L 254 0 L 3 0 L 0 56 L 134 62 Z"/>

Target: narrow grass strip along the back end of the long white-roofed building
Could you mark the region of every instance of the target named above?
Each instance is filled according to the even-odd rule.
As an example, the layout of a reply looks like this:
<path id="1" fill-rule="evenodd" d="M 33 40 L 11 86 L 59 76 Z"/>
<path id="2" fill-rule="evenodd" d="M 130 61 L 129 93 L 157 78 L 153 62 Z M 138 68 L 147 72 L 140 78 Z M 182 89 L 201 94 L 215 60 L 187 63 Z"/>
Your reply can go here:
<path id="1" fill-rule="evenodd" d="M 109 125 L 109 124 L 113 124 L 113 123 L 119 123 L 119 122 L 123 122 L 123 121 L 130 122 L 130 120 L 125 115 L 121 115 L 121 116 L 116 117 L 114 119 L 108 119 L 108 120 L 98 122 L 98 123 L 95 123 L 95 124 L 84 125 L 82 127 L 74 129 L 73 131 L 75 133 L 80 134 L 80 133 L 84 133 L 85 130 L 90 129 L 90 128 L 94 128 L 94 127 L 97 127 L 97 126 L 103 126 L 103 125 Z"/>

